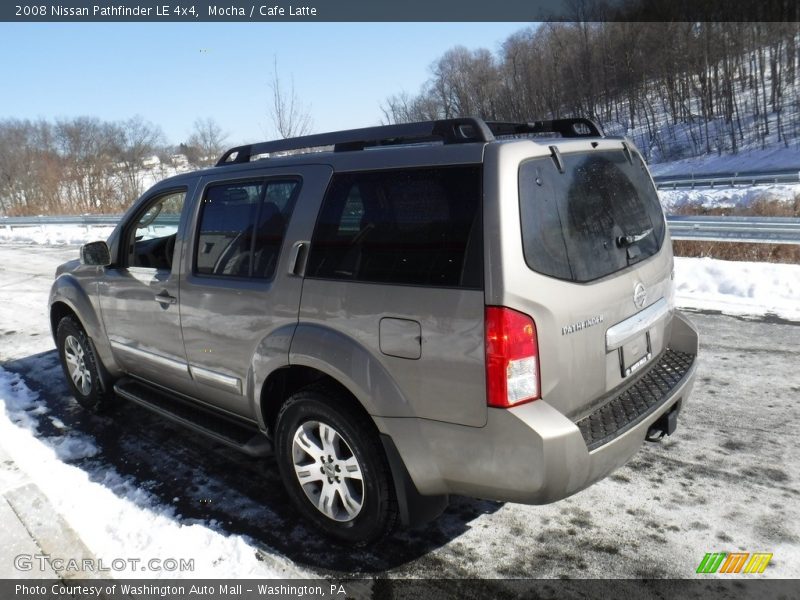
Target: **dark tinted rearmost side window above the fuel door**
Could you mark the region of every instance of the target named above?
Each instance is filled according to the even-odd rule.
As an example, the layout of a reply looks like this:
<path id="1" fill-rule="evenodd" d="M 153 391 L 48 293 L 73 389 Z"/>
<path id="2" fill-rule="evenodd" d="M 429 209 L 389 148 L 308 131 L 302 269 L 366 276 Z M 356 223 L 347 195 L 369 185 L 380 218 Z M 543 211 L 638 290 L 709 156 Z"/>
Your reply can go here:
<path id="1" fill-rule="evenodd" d="M 335 175 L 306 274 L 479 288 L 480 198 L 475 166 Z"/>

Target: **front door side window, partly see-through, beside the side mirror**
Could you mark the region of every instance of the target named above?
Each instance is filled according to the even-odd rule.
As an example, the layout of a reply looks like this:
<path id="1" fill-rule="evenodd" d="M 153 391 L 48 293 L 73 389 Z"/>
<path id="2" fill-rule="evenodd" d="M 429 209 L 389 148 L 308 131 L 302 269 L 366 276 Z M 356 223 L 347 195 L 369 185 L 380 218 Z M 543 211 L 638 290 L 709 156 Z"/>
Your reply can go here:
<path id="1" fill-rule="evenodd" d="M 186 191 L 169 192 L 153 200 L 129 233 L 128 266 L 172 270 Z"/>

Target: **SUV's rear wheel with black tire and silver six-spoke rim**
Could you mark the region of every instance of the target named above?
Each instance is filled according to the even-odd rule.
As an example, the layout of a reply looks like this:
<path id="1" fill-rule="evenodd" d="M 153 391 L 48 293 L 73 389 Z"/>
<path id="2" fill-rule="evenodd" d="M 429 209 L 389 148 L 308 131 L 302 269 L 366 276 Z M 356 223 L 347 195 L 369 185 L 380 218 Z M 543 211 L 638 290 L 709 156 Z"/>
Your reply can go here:
<path id="1" fill-rule="evenodd" d="M 397 498 L 375 425 L 350 402 L 320 386 L 292 395 L 278 413 L 275 455 L 305 517 L 331 537 L 366 545 L 394 529 Z"/>

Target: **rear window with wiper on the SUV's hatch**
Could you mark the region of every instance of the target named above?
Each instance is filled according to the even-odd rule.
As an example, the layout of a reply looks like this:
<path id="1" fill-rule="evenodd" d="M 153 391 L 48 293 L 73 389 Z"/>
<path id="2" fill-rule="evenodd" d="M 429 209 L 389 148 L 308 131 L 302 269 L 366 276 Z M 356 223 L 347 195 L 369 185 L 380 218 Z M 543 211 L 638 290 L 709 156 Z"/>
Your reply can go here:
<path id="1" fill-rule="evenodd" d="M 538 273 L 575 282 L 599 279 L 661 248 L 664 215 L 638 154 L 564 154 L 519 170 L 525 261 Z"/>

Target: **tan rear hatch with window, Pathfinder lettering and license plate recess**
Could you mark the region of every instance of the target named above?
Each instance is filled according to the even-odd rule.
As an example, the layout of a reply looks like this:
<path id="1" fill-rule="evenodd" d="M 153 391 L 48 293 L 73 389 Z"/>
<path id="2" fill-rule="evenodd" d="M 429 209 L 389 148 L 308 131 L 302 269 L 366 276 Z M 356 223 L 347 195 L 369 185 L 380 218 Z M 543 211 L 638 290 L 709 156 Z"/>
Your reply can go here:
<path id="1" fill-rule="evenodd" d="M 487 303 L 533 318 L 542 398 L 577 421 L 665 349 L 672 252 L 652 179 L 628 143 L 536 144 L 538 154 L 527 144 L 522 157 L 523 144 L 499 152 L 502 267 Z"/>

